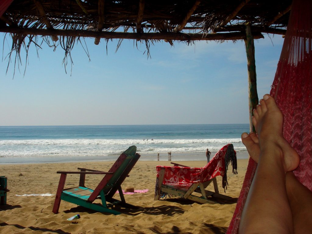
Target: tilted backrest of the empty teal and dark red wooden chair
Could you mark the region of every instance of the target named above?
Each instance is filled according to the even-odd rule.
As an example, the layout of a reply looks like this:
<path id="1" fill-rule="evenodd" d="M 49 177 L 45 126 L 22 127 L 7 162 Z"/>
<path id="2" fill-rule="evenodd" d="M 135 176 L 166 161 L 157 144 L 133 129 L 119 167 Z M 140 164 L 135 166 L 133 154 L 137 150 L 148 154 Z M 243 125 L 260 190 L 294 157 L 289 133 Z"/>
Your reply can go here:
<path id="1" fill-rule="evenodd" d="M 108 172 L 113 174 L 106 174 L 101 182 L 97 185 L 94 192 L 90 195 L 88 201 L 93 202 L 100 191 L 103 190 L 104 194 L 112 197 L 118 190 L 117 185 L 124 182 L 135 163 L 139 160 L 140 155 L 136 153 L 136 146 L 130 146 L 124 153 L 120 154 L 119 158 L 113 164 Z"/>

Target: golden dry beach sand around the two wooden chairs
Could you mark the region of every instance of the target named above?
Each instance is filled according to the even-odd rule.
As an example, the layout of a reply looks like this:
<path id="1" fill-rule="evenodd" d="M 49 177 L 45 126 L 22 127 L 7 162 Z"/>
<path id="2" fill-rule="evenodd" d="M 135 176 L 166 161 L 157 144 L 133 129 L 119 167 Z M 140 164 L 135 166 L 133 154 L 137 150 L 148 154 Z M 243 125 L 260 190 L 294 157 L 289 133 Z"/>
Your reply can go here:
<path id="1" fill-rule="evenodd" d="M 177 162 L 179 163 L 179 162 Z M 202 167 L 204 161 L 180 162 Z M 233 198 L 239 196 L 248 159 L 239 159 L 238 174 L 227 173 L 228 189 L 224 193 L 222 178 L 217 177 L 219 191 Z M 225 233 L 236 203 L 198 204 L 181 198 L 154 201 L 156 165 L 170 165 L 163 161 L 139 161 L 122 187 L 149 189 L 148 193 L 126 194 L 126 202 L 139 210 L 125 210 L 120 215 L 94 212 L 61 201 L 58 214 L 52 213 L 55 196 L 17 197 L 23 194 L 55 194 L 60 174 L 56 171 L 76 171 L 77 167 L 107 171 L 112 162 L 46 163 L 0 165 L 0 175 L 8 178 L 7 205 L 0 206 L 0 233 Z M 86 186 L 95 188 L 98 175 L 87 175 Z M 69 174 L 65 188 L 78 185 L 79 175 Z M 212 185 L 210 185 L 212 186 Z M 209 189 L 210 188 L 210 189 Z M 209 187 L 213 191 L 213 186 Z M 116 194 L 115 196 L 118 196 Z M 80 214 L 77 223 L 66 219 Z"/>

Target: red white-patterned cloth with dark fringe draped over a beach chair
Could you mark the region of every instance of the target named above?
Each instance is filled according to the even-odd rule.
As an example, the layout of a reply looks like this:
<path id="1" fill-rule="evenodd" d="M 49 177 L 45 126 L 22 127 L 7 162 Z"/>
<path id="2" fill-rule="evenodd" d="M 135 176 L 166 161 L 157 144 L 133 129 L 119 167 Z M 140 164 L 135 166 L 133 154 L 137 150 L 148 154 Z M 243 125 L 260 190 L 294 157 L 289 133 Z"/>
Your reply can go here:
<path id="1" fill-rule="evenodd" d="M 202 183 L 221 175 L 223 177 L 222 187 L 225 188 L 227 186 L 227 168 L 230 162 L 233 166 L 233 173 L 237 174 L 236 151 L 232 144 L 227 144 L 202 168 L 157 166 L 157 179 L 160 168 L 165 168 L 163 184 L 175 188 L 188 188 L 193 183 Z"/>

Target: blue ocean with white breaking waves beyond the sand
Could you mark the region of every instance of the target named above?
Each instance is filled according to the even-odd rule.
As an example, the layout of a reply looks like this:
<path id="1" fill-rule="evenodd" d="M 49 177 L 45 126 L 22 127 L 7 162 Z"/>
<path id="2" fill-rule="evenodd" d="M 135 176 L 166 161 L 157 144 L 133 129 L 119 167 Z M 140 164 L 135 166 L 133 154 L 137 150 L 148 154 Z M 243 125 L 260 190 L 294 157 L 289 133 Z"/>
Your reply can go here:
<path id="1" fill-rule="evenodd" d="M 0 164 L 114 161 L 131 145 L 140 160 L 206 160 L 228 143 L 246 158 L 243 132 L 249 124 L 0 126 Z"/>

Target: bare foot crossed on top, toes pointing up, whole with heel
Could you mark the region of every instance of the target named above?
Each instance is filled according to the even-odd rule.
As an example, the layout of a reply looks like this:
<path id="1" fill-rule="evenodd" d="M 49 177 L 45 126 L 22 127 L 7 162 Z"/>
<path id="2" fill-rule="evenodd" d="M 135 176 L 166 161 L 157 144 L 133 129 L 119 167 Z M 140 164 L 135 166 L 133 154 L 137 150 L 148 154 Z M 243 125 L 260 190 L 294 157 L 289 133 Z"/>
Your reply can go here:
<path id="1" fill-rule="evenodd" d="M 261 153 L 267 150 L 280 152 L 285 172 L 295 170 L 299 165 L 299 155 L 282 135 L 283 114 L 274 98 L 264 95 L 253 113 L 252 123 L 259 134 Z"/>

